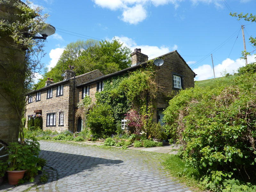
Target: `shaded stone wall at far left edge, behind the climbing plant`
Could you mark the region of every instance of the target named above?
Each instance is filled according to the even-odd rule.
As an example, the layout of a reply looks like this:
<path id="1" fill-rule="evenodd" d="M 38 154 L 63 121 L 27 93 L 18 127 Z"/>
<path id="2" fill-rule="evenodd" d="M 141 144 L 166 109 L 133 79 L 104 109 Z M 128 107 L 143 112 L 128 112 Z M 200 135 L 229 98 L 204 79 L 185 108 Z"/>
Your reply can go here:
<path id="1" fill-rule="evenodd" d="M 9 4 L 0 3 L 0 18 L 10 22 L 18 20 L 19 10 L 14 8 L 11 0 Z M 23 106 L 14 106 L 23 100 L 23 83 L 25 75 L 25 50 L 15 47 L 9 34 L 0 30 L 0 140 L 6 143 L 18 141 L 20 117 Z M 11 86 L 10 86 L 11 85 Z M 16 89 L 14 89 L 14 87 Z M 7 89 L 10 89 L 10 94 Z M 13 96 L 13 97 L 12 97 Z"/>

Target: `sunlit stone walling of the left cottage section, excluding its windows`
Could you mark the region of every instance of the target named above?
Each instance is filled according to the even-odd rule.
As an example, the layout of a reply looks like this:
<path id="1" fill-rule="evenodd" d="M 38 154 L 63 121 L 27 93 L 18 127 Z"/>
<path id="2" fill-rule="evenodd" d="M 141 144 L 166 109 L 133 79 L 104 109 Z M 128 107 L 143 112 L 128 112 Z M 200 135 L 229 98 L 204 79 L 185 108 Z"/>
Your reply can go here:
<path id="1" fill-rule="evenodd" d="M 75 78 L 75 107 L 78 102 L 79 89 L 76 88 L 76 85 L 95 79 L 103 74 L 99 70 L 92 71 Z M 28 122 L 29 115 L 35 115 L 34 111 L 42 110 L 43 117 L 43 130 L 52 130 L 61 132 L 64 130 L 73 131 L 73 95 L 74 95 L 74 77 L 70 78 L 69 81 L 64 81 L 63 83 L 63 95 L 56 97 L 57 86 L 59 83 L 48 85 L 47 88 L 42 88 L 41 91 L 41 100 L 36 101 L 36 91 L 33 93 L 33 102 L 28 103 L 26 106 L 26 127 Z M 45 89 L 46 88 L 46 89 Z M 52 98 L 47 99 L 47 90 L 52 88 Z M 59 112 L 64 114 L 64 126 L 59 126 Z M 56 126 L 47 126 L 46 127 L 46 115 L 47 113 L 56 113 Z M 76 124 L 74 124 L 74 131 L 76 130 Z"/>

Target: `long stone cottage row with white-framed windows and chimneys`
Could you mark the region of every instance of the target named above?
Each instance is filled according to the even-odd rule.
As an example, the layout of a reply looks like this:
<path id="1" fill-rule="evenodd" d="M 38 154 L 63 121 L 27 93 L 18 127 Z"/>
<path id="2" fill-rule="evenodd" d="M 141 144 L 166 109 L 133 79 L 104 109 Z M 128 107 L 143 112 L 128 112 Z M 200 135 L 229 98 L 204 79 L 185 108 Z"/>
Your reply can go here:
<path id="1" fill-rule="evenodd" d="M 95 93 L 104 90 L 104 80 L 115 76 L 124 75 L 139 68 L 145 67 L 148 56 L 141 53 L 140 49 L 135 49 L 131 54 L 132 66 L 112 74 L 103 75 L 99 70 L 95 70 L 80 76 L 75 76 L 71 70 L 65 71 L 65 79 L 54 83 L 50 78 L 45 82 L 45 87 L 36 92 L 28 93 L 28 105 L 26 106 L 26 122 L 30 115 L 41 114 L 43 116 L 43 129 L 54 131 L 78 130 L 82 129 L 81 119 L 75 124 L 74 111 L 76 104 L 87 95 L 95 102 Z M 189 68 L 185 60 L 177 51 L 169 52 L 159 56 L 163 58 L 164 64 L 156 75 L 159 82 L 156 108 L 154 110 L 153 121 L 162 123 L 163 110 L 168 106 L 166 93 L 172 90 L 186 89 L 194 87 L 194 77 L 196 74 Z M 74 92 L 75 87 L 75 92 Z M 75 95 L 75 97 L 73 97 Z M 122 127 L 125 128 L 126 120 L 122 120 Z M 75 128 L 74 128 L 75 127 Z"/>

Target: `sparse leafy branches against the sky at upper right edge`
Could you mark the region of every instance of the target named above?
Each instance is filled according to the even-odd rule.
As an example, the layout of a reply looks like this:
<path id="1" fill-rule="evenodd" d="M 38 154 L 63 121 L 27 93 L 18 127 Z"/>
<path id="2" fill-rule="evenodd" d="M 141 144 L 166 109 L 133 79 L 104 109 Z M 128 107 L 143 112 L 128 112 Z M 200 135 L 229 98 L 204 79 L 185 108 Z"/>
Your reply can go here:
<path id="1" fill-rule="evenodd" d="M 236 12 L 230 12 L 229 15 L 231 15 L 232 17 L 237 17 L 237 20 L 244 19 L 246 21 L 256 22 L 256 15 L 252 15 L 252 13 L 250 15 L 249 13 L 243 15 L 243 13 L 237 14 Z M 252 47 L 254 48 L 252 52 L 254 52 L 256 50 L 256 37 L 250 36 L 249 40 L 250 43 L 252 44 Z M 242 51 L 243 58 L 245 58 L 247 55 L 251 55 L 252 52 Z"/>

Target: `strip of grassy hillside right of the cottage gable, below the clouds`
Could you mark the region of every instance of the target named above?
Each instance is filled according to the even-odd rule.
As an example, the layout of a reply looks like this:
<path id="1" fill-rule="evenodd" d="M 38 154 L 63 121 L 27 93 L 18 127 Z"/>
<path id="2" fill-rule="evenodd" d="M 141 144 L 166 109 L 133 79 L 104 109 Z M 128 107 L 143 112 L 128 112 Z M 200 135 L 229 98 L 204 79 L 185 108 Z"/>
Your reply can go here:
<path id="1" fill-rule="evenodd" d="M 224 77 L 219 77 L 214 79 L 207 79 L 207 80 L 202 80 L 202 81 L 195 81 L 195 85 L 197 85 L 198 87 L 217 87 L 217 86 L 223 86 L 223 85 L 231 85 L 234 84 L 233 83 L 233 79 L 237 77 L 237 75 L 230 75 L 230 76 L 224 76 Z"/>

